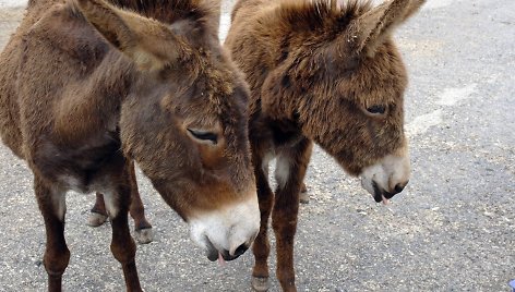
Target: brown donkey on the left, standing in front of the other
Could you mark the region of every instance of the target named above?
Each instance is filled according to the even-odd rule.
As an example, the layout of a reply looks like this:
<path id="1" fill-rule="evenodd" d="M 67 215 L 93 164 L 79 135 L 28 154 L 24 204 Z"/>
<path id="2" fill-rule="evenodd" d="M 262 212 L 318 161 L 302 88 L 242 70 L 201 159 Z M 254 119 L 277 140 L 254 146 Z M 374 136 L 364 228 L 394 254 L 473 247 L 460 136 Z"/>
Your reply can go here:
<path id="1" fill-rule="evenodd" d="M 104 194 L 111 252 L 127 290 L 141 291 L 128 226 L 133 162 L 209 260 L 237 258 L 256 236 L 249 90 L 213 11 L 202 0 L 28 3 L 0 56 L 0 133 L 34 174 L 49 291 L 61 291 L 70 259 L 69 190 Z"/>

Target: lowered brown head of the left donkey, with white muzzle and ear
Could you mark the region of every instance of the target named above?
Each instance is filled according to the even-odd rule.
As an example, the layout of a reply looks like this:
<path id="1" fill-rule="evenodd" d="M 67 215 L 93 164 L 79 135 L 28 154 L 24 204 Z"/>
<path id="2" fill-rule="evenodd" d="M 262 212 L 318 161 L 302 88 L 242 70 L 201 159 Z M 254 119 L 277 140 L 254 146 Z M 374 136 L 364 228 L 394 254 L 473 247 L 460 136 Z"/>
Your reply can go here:
<path id="1" fill-rule="evenodd" d="M 260 221 L 249 93 L 219 46 L 208 9 L 190 3 L 196 7 L 184 17 L 165 24 L 101 0 L 76 3 L 122 52 L 119 61 L 133 63 L 119 123 L 123 151 L 188 221 L 211 260 L 238 257 Z"/>

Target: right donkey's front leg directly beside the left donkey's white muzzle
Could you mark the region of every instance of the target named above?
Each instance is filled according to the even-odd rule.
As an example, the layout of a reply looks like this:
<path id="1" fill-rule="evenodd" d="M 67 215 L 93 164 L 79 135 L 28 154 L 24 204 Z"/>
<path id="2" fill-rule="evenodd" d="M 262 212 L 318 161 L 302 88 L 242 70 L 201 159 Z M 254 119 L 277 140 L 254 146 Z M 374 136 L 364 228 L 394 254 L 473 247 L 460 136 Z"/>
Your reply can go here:
<path id="1" fill-rule="evenodd" d="M 253 156 L 254 173 L 258 186 L 258 200 L 261 211 L 261 227 L 258 238 L 254 240 L 252 252 L 255 264 L 252 271 L 252 288 L 255 291 L 268 290 L 268 218 L 274 203 L 274 194 L 268 185 L 268 160 L 264 161 L 258 151 Z"/>

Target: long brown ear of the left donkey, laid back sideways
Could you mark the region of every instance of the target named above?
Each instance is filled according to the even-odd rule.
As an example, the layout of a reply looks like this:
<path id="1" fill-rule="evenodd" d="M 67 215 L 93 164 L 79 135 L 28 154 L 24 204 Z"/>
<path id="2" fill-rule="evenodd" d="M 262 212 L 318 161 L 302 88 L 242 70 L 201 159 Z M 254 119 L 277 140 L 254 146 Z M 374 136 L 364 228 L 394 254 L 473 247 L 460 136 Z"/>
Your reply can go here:
<path id="1" fill-rule="evenodd" d="M 159 70 L 177 60 L 181 42 L 161 23 L 103 0 L 75 0 L 84 17 L 142 70 Z"/>

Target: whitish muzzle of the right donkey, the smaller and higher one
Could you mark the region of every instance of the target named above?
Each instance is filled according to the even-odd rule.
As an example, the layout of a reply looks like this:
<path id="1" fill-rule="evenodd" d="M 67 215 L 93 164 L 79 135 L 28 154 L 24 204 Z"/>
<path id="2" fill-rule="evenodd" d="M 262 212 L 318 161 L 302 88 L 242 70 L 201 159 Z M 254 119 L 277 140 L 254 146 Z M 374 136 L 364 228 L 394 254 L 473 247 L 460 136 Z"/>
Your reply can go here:
<path id="1" fill-rule="evenodd" d="M 409 155 L 407 148 L 403 148 L 363 169 L 360 177 L 361 185 L 374 196 L 375 202 L 387 204 L 390 198 L 408 184 L 409 175 Z"/>

